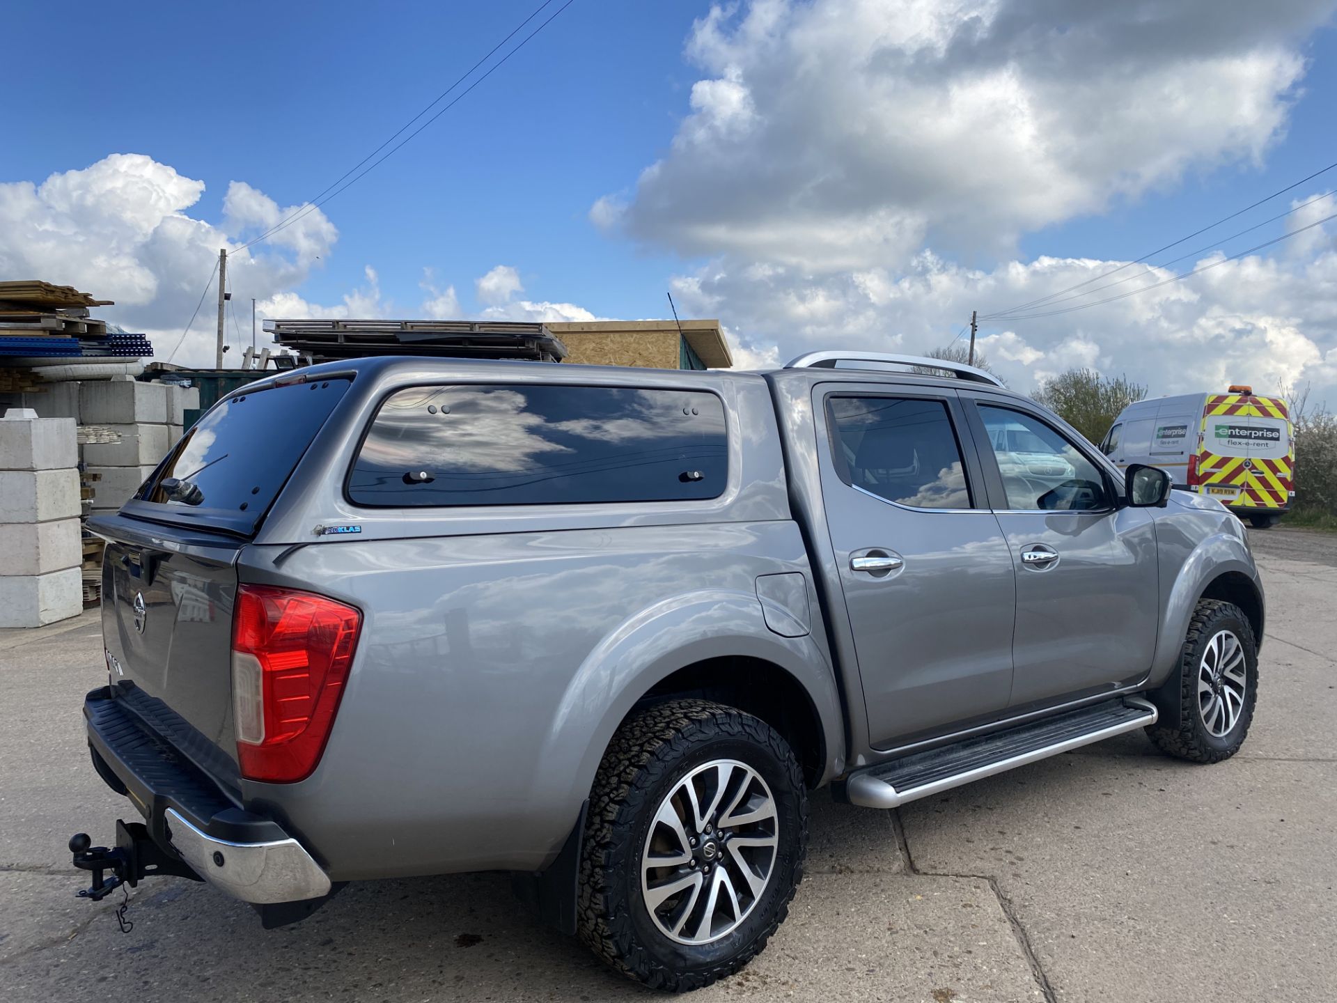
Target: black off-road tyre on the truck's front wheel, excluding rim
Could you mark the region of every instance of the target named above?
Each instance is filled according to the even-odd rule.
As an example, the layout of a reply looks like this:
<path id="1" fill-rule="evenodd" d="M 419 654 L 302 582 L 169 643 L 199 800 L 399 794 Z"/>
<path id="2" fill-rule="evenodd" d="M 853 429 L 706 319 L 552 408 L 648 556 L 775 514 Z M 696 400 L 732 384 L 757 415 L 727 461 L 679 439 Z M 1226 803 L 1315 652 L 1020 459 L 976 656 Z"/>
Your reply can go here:
<path id="1" fill-rule="evenodd" d="M 1198 667 L 1209 641 L 1221 630 L 1230 630 L 1239 639 L 1245 655 L 1245 699 L 1239 719 L 1225 736 L 1211 734 L 1202 719 L 1198 702 Z M 1189 622 L 1189 634 L 1179 651 L 1175 670 L 1179 679 L 1179 726 L 1161 723 L 1147 728 L 1147 737 L 1161 752 L 1190 762 L 1221 762 L 1243 745 L 1258 701 L 1258 643 L 1249 618 L 1234 603 L 1199 599 Z"/>

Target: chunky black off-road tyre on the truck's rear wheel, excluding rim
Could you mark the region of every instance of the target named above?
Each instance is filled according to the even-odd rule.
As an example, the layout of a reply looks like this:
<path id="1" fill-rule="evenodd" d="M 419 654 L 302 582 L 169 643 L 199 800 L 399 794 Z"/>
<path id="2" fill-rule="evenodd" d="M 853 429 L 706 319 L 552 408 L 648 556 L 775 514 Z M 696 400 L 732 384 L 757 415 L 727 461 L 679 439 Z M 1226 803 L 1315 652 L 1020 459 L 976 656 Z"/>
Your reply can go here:
<path id="1" fill-rule="evenodd" d="M 777 806 L 779 836 L 766 888 L 723 939 L 675 943 L 654 924 L 640 860 L 654 813 L 695 766 L 730 758 L 757 770 Z M 742 968 L 789 912 L 802 880 L 808 792 L 789 744 L 770 725 L 703 699 L 656 703 L 614 736 L 590 793 L 580 857 L 578 936 L 607 964 L 656 990 L 685 992 Z"/>

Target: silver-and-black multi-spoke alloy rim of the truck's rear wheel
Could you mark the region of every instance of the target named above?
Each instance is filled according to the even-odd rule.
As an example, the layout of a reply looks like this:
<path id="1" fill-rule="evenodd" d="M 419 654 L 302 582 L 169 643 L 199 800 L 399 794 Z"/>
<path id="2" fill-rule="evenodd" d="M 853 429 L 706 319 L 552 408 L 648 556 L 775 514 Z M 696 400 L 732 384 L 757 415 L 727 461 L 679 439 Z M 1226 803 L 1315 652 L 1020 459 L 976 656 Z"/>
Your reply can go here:
<path id="1" fill-rule="evenodd" d="M 775 798 L 737 760 L 693 769 L 659 802 L 640 855 L 650 919 L 679 944 L 709 944 L 751 913 L 779 845 Z"/>

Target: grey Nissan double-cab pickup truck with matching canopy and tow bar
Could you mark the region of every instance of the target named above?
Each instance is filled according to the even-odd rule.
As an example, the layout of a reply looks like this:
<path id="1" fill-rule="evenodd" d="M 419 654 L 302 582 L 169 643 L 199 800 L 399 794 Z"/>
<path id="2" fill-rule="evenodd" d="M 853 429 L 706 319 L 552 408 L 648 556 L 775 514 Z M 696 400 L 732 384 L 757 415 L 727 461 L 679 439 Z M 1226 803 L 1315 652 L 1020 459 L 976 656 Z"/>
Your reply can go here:
<path id="1" fill-rule="evenodd" d="M 1134 729 L 1215 762 L 1257 694 L 1241 523 L 936 360 L 318 365 L 90 528 L 88 741 L 139 817 L 71 840 L 80 895 L 179 875 L 271 927 L 509 871 L 667 990 L 783 920 L 809 790 L 888 809 Z"/>

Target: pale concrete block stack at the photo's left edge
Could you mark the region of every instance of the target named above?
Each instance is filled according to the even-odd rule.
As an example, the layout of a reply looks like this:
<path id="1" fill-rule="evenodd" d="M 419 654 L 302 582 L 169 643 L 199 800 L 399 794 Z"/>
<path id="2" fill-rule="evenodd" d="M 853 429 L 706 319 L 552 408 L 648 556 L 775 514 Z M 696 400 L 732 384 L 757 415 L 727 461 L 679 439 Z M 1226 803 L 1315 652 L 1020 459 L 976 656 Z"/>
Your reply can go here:
<path id="1" fill-rule="evenodd" d="M 40 627 L 83 610 L 74 419 L 0 416 L 0 627 Z"/>

